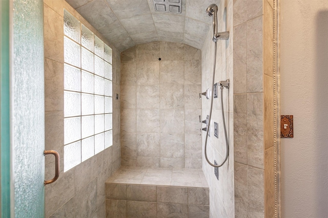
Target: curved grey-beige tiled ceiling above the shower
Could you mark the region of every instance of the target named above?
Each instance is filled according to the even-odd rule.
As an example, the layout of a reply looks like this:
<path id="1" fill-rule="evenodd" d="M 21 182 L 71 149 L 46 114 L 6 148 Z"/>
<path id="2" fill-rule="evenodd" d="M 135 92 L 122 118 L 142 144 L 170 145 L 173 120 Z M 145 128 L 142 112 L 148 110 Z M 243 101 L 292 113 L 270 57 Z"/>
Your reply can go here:
<path id="1" fill-rule="evenodd" d="M 212 25 L 205 10 L 218 0 L 181 0 L 180 14 L 155 12 L 153 0 L 66 0 L 119 51 L 152 41 L 201 49 Z"/>

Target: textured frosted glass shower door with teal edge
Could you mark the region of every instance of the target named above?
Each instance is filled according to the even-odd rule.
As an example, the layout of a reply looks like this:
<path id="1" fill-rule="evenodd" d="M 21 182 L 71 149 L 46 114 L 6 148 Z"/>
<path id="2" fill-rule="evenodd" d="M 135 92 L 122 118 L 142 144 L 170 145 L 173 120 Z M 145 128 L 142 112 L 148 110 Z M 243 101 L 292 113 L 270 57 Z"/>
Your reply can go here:
<path id="1" fill-rule="evenodd" d="M 1 0 L 1 12 L 2 217 L 44 217 L 43 1 Z"/>

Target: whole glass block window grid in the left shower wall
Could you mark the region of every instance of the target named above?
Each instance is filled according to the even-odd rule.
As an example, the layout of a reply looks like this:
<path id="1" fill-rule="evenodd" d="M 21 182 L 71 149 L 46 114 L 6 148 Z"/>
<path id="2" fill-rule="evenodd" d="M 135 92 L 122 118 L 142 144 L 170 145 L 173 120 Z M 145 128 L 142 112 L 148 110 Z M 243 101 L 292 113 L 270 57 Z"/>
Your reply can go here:
<path id="1" fill-rule="evenodd" d="M 64 10 L 64 172 L 113 144 L 112 49 Z"/>

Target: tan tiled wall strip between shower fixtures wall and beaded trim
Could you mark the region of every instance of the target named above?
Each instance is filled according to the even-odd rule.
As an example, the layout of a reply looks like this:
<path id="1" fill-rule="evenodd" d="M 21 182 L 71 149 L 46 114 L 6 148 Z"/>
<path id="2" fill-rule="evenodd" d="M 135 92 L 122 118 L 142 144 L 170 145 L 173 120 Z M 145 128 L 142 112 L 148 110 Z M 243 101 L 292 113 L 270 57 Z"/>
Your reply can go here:
<path id="1" fill-rule="evenodd" d="M 236 217 L 274 216 L 273 3 L 234 1 Z"/>

